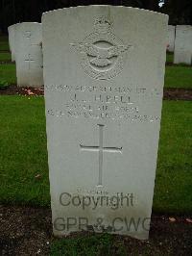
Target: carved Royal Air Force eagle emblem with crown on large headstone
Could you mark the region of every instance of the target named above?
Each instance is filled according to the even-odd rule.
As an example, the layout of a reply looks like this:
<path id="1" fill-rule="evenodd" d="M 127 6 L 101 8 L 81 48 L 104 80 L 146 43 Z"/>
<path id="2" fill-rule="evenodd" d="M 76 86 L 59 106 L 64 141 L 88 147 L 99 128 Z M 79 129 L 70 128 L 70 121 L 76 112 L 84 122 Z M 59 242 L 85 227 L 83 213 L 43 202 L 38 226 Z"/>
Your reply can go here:
<path id="1" fill-rule="evenodd" d="M 94 79 L 108 80 L 123 69 L 126 52 L 132 45 L 124 45 L 122 40 L 110 32 L 111 24 L 106 17 L 95 22 L 95 32 L 82 42 L 70 43 L 81 56 L 85 73 Z"/>

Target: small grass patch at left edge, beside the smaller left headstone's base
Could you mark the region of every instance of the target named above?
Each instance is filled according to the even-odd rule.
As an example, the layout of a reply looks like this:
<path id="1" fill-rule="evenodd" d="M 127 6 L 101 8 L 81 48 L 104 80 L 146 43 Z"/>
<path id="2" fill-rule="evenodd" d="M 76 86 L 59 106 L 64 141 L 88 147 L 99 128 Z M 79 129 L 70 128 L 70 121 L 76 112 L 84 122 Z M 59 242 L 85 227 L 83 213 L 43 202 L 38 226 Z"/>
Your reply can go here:
<path id="1" fill-rule="evenodd" d="M 9 85 L 16 84 L 15 64 L 0 64 L 0 82 L 6 81 Z"/>

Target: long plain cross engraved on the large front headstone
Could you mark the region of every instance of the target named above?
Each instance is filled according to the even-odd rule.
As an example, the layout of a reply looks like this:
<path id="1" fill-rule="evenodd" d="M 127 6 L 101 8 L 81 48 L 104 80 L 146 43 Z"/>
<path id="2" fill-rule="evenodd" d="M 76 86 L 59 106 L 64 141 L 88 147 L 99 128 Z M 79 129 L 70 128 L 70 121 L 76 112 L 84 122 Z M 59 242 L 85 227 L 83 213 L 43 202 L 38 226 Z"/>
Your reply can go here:
<path id="1" fill-rule="evenodd" d="M 99 146 L 88 146 L 80 144 L 82 151 L 99 152 L 99 181 L 98 186 L 102 186 L 103 176 L 103 152 L 108 153 L 122 153 L 122 147 L 105 147 L 104 144 L 104 125 L 98 124 L 99 126 Z"/>

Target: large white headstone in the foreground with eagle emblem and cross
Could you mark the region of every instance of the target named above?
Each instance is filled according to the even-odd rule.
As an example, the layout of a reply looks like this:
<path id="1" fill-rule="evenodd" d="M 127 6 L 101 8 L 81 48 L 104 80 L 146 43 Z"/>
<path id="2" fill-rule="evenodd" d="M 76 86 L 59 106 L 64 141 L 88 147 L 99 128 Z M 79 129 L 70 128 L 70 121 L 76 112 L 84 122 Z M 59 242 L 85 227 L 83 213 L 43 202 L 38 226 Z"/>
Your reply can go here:
<path id="1" fill-rule="evenodd" d="M 77 7 L 44 13 L 42 27 L 54 234 L 147 239 L 167 15 Z"/>

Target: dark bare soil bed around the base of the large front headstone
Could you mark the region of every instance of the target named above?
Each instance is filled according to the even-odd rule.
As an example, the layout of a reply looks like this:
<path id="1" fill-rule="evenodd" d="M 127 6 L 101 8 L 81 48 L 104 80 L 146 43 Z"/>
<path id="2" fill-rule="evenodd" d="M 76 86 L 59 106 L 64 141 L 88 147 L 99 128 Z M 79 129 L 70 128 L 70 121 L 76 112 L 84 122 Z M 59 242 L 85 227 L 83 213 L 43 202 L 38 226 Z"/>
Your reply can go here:
<path id="1" fill-rule="evenodd" d="M 128 255 L 191 255 L 191 238 L 192 218 L 153 215 L 148 241 L 115 236 L 115 246 L 123 241 Z M 53 240 L 50 209 L 0 206 L 0 255 L 49 255 Z"/>

